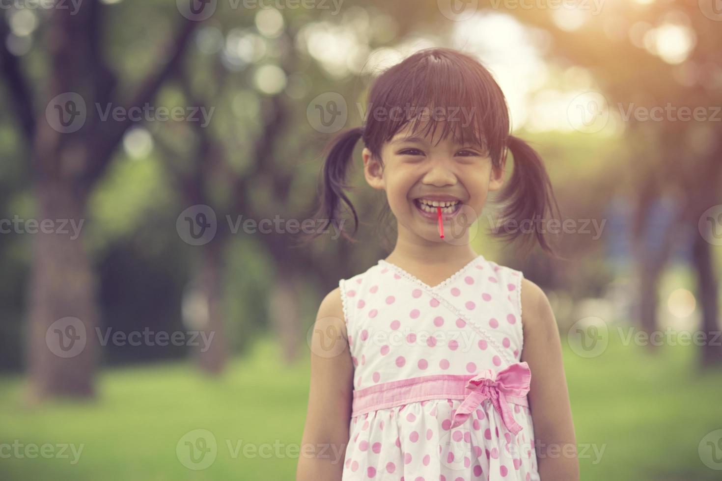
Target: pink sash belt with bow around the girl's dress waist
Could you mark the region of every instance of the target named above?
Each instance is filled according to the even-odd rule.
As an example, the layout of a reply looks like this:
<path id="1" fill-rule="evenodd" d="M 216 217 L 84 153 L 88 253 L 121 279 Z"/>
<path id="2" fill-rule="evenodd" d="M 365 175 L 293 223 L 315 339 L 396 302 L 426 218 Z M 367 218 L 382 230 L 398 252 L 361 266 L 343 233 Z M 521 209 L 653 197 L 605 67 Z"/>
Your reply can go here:
<path id="1" fill-rule="evenodd" d="M 464 423 L 484 400 L 491 400 L 506 428 L 516 434 L 521 425 L 511 414 L 510 403 L 529 406 L 531 371 L 526 362 L 513 363 L 501 371 L 485 369 L 476 375 L 438 374 L 390 381 L 358 389 L 353 394 L 352 416 L 388 407 L 432 399 L 464 400 L 454 413 L 451 428 Z"/>

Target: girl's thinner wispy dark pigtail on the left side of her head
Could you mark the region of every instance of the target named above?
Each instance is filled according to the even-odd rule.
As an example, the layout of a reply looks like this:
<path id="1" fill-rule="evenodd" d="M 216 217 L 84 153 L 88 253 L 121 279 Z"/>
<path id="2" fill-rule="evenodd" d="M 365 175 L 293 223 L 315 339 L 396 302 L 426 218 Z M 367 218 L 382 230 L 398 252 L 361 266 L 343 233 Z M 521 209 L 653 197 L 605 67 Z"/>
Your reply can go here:
<path id="1" fill-rule="evenodd" d="M 363 133 L 363 127 L 347 129 L 346 131 L 338 133 L 329 141 L 329 144 L 326 144 L 326 148 L 323 149 L 324 154 L 326 154 L 326 162 L 323 163 L 323 169 L 321 170 L 321 175 L 323 176 L 321 191 L 319 193 L 321 206 L 318 207 L 318 211 L 316 211 L 314 215 L 315 219 L 323 221 L 323 228 L 316 229 L 313 234 L 306 235 L 303 244 L 308 244 L 311 240 L 316 239 L 316 237 L 329 228 L 332 222 L 339 225 L 338 213 L 342 201 L 349 207 L 353 214 L 353 234 L 358 230 L 359 219 L 356 209 L 344 192 L 344 189 L 349 187 L 346 184 L 346 177 L 349 167 L 352 164 L 351 159 L 356 143 L 359 138 L 363 136 Z M 355 241 L 346 231 L 341 230 L 341 234 L 349 241 Z"/>

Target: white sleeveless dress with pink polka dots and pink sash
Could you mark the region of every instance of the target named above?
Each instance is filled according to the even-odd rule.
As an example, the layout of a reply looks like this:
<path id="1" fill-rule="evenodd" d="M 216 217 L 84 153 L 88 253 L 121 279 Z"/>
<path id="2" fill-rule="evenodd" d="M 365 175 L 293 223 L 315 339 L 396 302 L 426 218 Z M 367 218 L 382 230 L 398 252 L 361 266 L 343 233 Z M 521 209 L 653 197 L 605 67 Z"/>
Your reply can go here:
<path id="1" fill-rule="evenodd" d="M 437 286 L 379 260 L 339 281 L 354 399 L 342 481 L 538 481 L 521 271 Z"/>

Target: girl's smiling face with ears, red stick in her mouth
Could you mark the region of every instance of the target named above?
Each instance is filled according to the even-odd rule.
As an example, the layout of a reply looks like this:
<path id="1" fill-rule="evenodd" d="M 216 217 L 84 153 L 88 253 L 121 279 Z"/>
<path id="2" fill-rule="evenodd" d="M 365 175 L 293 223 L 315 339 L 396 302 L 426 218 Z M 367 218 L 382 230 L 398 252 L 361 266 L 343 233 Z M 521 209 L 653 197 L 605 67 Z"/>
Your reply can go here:
<path id="1" fill-rule="evenodd" d="M 415 240 L 443 242 L 436 206 L 425 208 L 422 204 L 433 200 L 442 206 L 444 202 L 460 204 L 443 208 L 444 224 L 446 227 L 453 222 L 455 229 L 461 226 L 466 230 L 466 224 L 482 212 L 488 193 L 502 186 L 504 170 L 493 169 L 491 157 L 474 141 L 461 145 L 453 135 L 438 141 L 431 134 L 424 137 L 425 128 L 418 131 L 412 136 L 406 125 L 383 144 L 384 167 L 369 149 L 364 149 L 364 174 L 371 187 L 386 190 L 388 205 L 399 223 L 399 237 L 410 235 L 419 238 Z M 436 131 L 443 131 L 443 125 L 438 125 Z M 459 213 L 466 214 L 465 224 L 461 217 L 457 219 Z"/>

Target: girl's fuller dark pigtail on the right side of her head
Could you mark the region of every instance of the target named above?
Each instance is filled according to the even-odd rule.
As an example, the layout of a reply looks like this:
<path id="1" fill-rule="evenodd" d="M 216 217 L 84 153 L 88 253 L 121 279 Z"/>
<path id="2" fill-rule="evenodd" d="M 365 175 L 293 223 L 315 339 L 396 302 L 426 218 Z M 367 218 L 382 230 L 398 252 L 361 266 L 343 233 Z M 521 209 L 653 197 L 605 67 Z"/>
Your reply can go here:
<path id="1" fill-rule="evenodd" d="M 544 162 L 521 138 L 508 136 L 506 145 L 514 157 L 514 171 L 499 196 L 504 205 L 503 224 L 494 234 L 507 240 L 521 239 L 526 252 L 536 240 L 544 252 L 557 257 L 544 236 L 547 229 L 540 229 L 537 224 L 559 218 L 559 206 Z"/>

